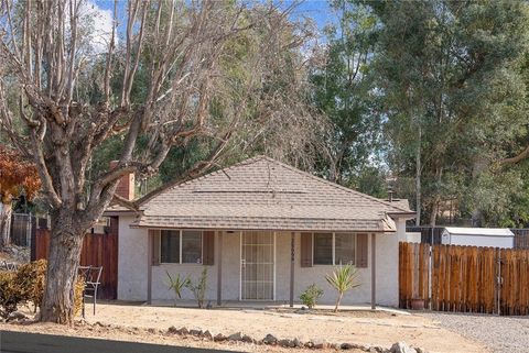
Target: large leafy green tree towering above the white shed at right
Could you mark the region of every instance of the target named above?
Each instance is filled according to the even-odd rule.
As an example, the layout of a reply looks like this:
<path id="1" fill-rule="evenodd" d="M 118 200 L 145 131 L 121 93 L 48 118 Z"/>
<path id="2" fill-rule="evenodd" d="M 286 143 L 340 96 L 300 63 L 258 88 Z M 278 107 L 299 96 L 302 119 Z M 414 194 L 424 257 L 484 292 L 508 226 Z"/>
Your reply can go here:
<path id="1" fill-rule="evenodd" d="M 380 21 L 378 87 L 390 165 L 412 178 L 417 223 L 488 169 L 525 122 L 528 5 L 512 1 L 361 1 Z M 498 126 L 504 130 L 498 131 Z M 494 141 L 494 143 L 493 143 Z M 402 178 L 401 178 L 402 179 Z"/>

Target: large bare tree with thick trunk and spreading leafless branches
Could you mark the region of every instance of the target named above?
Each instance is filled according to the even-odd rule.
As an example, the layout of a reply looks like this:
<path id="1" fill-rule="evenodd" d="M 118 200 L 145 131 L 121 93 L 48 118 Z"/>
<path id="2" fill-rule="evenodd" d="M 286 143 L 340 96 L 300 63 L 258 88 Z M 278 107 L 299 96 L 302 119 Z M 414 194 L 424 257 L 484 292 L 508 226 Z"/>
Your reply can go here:
<path id="1" fill-rule="evenodd" d="M 115 196 L 121 176 L 152 175 L 172 147 L 208 139 L 212 153 L 190 177 L 278 121 L 304 126 L 298 96 L 283 86 L 278 97 L 270 82 L 306 33 L 289 21 L 292 7 L 130 0 L 121 19 L 116 1 L 108 48 L 97 53 L 84 0 L 0 1 L 1 129 L 33 158 L 51 208 L 41 320 L 72 323 L 85 231 L 112 200 L 137 208 Z M 89 159 L 114 136 L 119 163 L 87 191 Z"/>

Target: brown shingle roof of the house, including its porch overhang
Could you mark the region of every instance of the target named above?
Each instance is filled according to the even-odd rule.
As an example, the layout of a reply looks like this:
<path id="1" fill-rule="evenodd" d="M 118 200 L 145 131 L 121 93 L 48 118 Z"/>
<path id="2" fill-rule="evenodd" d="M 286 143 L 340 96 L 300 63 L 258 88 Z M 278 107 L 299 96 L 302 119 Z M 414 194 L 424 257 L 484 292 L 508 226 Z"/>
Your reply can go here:
<path id="1" fill-rule="evenodd" d="M 395 231 L 409 209 L 258 156 L 173 186 L 141 207 L 149 228 Z"/>

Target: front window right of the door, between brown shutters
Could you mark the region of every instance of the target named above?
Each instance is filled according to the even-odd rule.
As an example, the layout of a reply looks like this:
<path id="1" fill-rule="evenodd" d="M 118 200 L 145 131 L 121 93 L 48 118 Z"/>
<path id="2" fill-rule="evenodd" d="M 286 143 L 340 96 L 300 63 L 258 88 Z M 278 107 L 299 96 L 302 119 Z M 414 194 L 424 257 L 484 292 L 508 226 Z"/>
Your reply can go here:
<path id="1" fill-rule="evenodd" d="M 314 233 L 314 265 L 356 264 L 356 235 L 352 233 Z"/>

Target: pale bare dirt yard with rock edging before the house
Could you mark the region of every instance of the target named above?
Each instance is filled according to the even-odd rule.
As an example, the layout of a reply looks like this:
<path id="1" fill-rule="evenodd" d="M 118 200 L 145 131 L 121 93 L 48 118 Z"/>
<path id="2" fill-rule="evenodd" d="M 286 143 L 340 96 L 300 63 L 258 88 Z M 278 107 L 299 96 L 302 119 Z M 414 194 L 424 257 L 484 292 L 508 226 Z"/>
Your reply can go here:
<path id="1" fill-rule="evenodd" d="M 166 335 L 170 327 L 209 330 L 214 335 L 229 335 L 235 332 L 260 340 L 268 333 L 278 339 L 301 341 L 326 341 L 330 343 L 356 343 L 390 348 L 392 343 L 404 341 L 428 352 L 487 352 L 487 349 L 454 332 L 441 328 L 429 318 L 391 313 L 385 311 L 347 311 L 338 315 L 296 313 L 288 309 L 212 309 L 148 307 L 127 304 L 101 304 L 97 315 L 91 316 L 87 306 L 87 324 L 73 329 L 34 323 L 30 326 L 1 324 L 1 329 L 21 331 L 45 331 L 116 340 L 147 341 L 191 346 L 216 345 L 238 351 L 262 351 L 264 346 L 255 344 L 213 343 L 194 338 L 183 340 Z M 110 326 L 110 327 L 108 327 Z M 61 332 L 64 331 L 64 332 Z M 218 348 L 218 346 L 217 346 Z M 288 349 L 266 348 L 272 351 Z M 296 349 L 296 352 L 301 350 Z"/>

